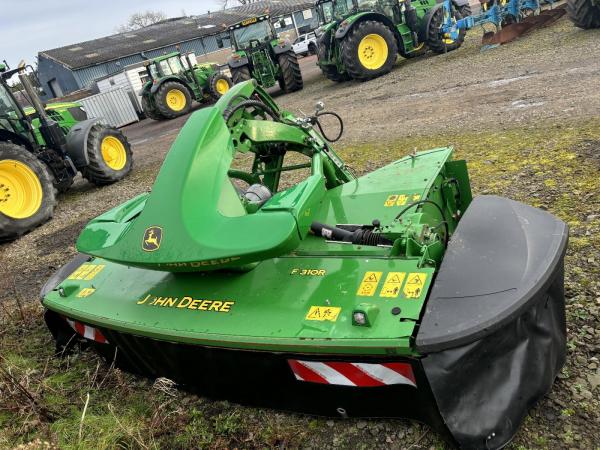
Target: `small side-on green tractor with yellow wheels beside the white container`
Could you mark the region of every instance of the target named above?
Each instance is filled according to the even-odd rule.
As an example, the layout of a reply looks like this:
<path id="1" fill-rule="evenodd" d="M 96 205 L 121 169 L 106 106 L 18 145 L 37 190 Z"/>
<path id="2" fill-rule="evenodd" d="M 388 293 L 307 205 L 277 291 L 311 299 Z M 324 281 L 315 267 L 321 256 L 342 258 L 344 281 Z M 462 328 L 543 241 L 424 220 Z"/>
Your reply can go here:
<path id="1" fill-rule="evenodd" d="M 214 64 L 193 64 L 188 54 L 173 52 L 146 62 L 150 78 L 142 88 L 142 109 L 154 120 L 174 119 L 199 103 L 218 100 L 232 83 Z"/>

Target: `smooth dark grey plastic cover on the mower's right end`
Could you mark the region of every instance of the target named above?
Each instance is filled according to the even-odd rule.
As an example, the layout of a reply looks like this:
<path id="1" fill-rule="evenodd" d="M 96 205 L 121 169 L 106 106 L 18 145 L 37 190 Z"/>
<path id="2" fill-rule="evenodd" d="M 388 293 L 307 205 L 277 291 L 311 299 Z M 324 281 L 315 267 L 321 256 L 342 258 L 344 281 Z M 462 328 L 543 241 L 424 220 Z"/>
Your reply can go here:
<path id="1" fill-rule="evenodd" d="M 450 239 L 416 347 L 437 352 L 482 339 L 538 301 L 562 265 L 567 225 L 540 209 L 476 197 Z"/>

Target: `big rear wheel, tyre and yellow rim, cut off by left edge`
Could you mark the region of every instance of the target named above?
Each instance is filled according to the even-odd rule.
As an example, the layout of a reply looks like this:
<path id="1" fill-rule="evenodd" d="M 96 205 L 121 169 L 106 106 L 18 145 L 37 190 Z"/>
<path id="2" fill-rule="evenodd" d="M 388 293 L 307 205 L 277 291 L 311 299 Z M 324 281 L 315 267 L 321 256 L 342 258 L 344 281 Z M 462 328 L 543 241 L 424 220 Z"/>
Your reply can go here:
<path id="1" fill-rule="evenodd" d="M 0 241 L 16 239 L 52 217 L 50 170 L 24 147 L 0 142 Z"/>

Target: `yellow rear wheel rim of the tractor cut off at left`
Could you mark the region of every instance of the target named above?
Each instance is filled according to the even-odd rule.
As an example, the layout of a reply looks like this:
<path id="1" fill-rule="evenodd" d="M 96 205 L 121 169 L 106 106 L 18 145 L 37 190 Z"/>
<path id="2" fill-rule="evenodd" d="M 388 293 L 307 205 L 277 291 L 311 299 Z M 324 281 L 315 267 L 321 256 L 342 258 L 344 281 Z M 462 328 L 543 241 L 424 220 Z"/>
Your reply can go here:
<path id="1" fill-rule="evenodd" d="M 42 183 L 21 161 L 0 161 L 0 213 L 12 219 L 33 216 L 42 206 Z"/>

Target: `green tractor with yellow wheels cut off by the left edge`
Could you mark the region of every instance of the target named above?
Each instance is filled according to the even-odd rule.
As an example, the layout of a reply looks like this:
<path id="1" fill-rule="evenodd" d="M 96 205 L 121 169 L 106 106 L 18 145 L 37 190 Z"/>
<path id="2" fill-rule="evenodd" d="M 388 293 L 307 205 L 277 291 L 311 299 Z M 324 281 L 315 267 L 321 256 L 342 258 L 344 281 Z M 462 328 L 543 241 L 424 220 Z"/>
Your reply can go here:
<path id="1" fill-rule="evenodd" d="M 8 80 L 18 75 L 23 109 Z M 124 178 L 133 165 L 127 138 L 88 119 L 77 104 L 44 107 L 27 68 L 0 64 L 0 240 L 11 240 L 52 217 L 56 191 L 67 190 L 78 172 L 102 186 Z"/>

